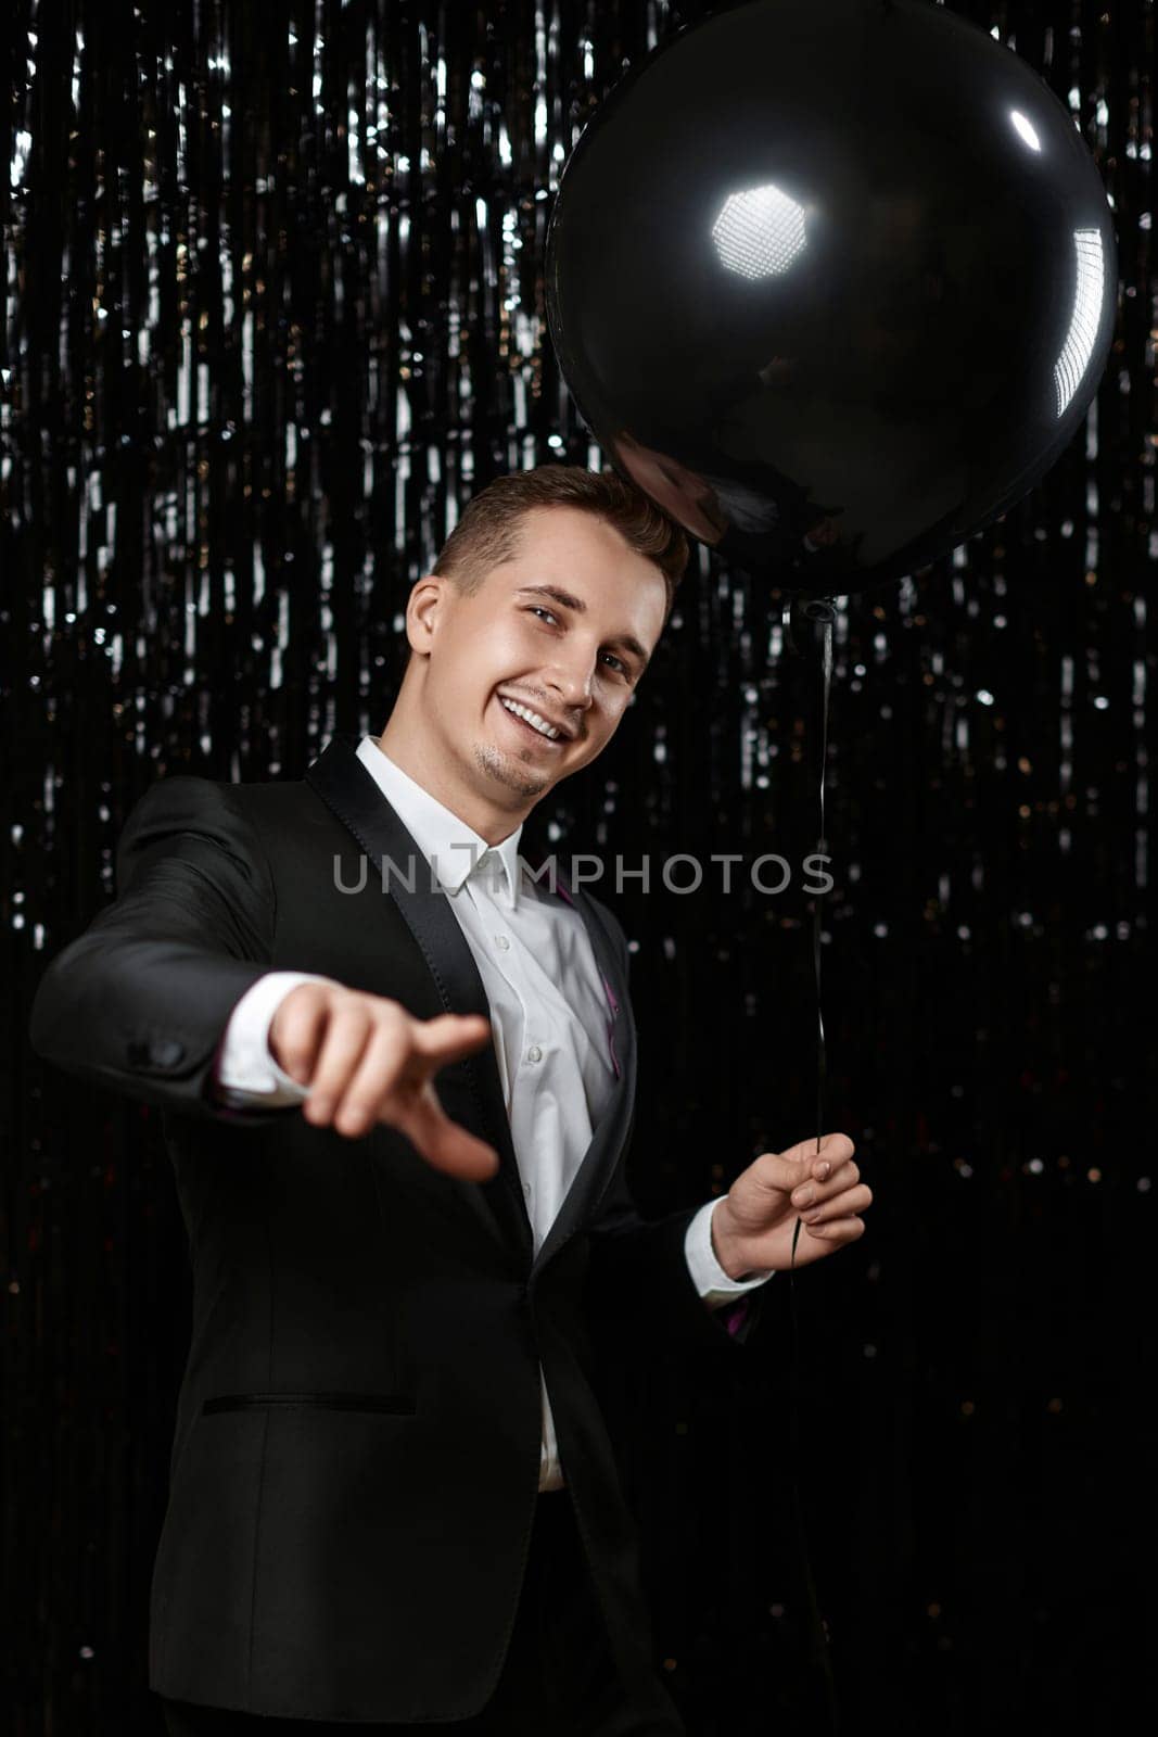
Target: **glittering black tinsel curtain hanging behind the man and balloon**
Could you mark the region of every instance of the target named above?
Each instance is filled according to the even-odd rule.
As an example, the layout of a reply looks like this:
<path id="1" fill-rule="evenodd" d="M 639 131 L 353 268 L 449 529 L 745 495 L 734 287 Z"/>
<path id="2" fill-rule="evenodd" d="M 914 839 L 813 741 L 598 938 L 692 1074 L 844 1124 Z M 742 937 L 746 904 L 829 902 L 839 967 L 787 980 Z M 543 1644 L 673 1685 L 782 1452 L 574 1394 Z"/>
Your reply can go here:
<path id="1" fill-rule="evenodd" d="M 872 3 L 872 0 L 866 0 Z M 472 490 L 601 462 L 543 320 L 563 162 L 667 0 L 10 0 L 3 201 L 7 1727 L 160 1728 L 144 1624 L 188 1344 L 158 1115 L 28 1009 L 156 778 L 378 731 Z M 835 622 L 826 1127 L 875 1193 L 797 1280 L 804 1496 L 847 1730 L 1125 1730 L 1153 1596 L 1153 0 L 955 5 L 1069 104 L 1113 200 L 1083 438 Z M 634 1181 L 691 1204 L 814 1133 L 811 902 L 658 881 L 816 835 L 814 646 L 700 551 L 616 740 L 536 823 L 644 856 Z M 682 877 L 672 875 L 674 881 Z M 701 1018 L 708 1004 L 722 1009 Z M 774 1285 L 786 1284 L 781 1277 Z M 786 1320 L 786 1315 L 785 1315 Z M 693 1737 L 825 1730 L 788 1518 L 792 1343 L 655 1376 L 635 1468 Z M 658 1390 L 663 1391 L 658 1391 Z"/>

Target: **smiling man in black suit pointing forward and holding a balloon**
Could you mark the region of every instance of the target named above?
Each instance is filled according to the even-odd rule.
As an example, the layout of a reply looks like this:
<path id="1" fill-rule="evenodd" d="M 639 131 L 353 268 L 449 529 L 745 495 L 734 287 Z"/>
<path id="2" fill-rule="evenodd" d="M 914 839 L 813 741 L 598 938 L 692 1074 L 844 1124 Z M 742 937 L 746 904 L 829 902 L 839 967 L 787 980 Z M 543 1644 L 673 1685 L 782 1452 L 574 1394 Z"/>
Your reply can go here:
<path id="1" fill-rule="evenodd" d="M 45 974 L 36 1051 L 167 1112 L 189 1232 L 149 1624 L 172 1732 L 681 1730 L 599 1355 L 745 1355 L 800 1192 L 797 1265 L 872 1199 L 830 1134 L 641 1219 L 623 929 L 517 858 L 684 563 L 615 476 L 500 478 L 411 591 L 382 736 L 302 782 L 156 783 Z"/>

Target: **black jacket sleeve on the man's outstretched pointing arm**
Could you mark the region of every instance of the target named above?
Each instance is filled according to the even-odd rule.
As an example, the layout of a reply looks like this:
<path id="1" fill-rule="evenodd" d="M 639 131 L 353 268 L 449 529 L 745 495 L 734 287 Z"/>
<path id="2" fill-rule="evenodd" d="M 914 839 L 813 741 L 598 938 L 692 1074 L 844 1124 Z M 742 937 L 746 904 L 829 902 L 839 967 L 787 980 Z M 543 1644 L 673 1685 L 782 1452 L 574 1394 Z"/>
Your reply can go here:
<path id="1" fill-rule="evenodd" d="M 214 1094 L 229 1014 L 269 969 L 274 886 L 233 785 L 163 778 L 116 848 L 116 898 L 45 971 L 31 1011 L 38 1056 L 142 1103 L 226 1122 Z"/>

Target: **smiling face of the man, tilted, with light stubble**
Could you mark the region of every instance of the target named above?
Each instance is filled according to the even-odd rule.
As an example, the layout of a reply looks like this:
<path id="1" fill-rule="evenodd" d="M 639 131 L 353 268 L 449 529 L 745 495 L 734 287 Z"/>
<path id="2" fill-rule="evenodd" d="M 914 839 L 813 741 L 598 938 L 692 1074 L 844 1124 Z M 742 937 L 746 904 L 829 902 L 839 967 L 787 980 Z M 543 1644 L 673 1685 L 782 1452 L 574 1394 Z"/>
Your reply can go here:
<path id="1" fill-rule="evenodd" d="M 474 596 L 438 575 L 413 587 L 406 627 L 415 655 L 427 658 L 431 745 L 479 797 L 530 809 L 611 740 L 665 606 L 660 570 L 604 519 L 531 509 L 514 558 L 493 566 Z"/>

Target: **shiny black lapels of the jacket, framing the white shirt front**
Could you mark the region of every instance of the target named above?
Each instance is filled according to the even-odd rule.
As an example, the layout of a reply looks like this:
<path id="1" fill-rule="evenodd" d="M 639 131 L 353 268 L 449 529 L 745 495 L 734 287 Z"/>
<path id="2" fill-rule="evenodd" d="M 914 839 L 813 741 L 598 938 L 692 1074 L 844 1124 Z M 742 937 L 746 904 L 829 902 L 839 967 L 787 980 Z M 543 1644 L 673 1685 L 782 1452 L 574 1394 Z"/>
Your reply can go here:
<path id="1" fill-rule="evenodd" d="M 345 731 L 337 733 L 307 768 L 306 782 L 358 841 L 373 863 L 378 884 L 385 879 L 387 895 L 398 905 L 418 943 L 446 1013 L 481 1013 L 490 1020 L 486 990 L 450 898 L 438 884 L 431 886 L 431 877 L 422 867 L 413 875 L 413 891 L 406 886 L 406 881 L 411 879 L 406 874 L 406 865 L 411 860 L 422 865 L 422 853 L 358 759 L 356 749 L 356 736 Z M 387 877 L 382 870 L 385 860 L 398 865 Z M 550 882 L 540 881 L 540 886 L 549 888 Z M 592 943 L 604 983 L 609 1060 L 616 1079 L 566 1200 L 533 1259 L 535 1271 L 542 1270 L 575 1230 L 594 1214 L 627 1138 L 635 1094 L 635 1032 L 627 1002 L 627 985 L 618 966 L 618 950 L 599 908 L 583 889 L 571 888 L 561 872 L 556 875 L 556 886 L 557 896 L 566 898 L 578 910 Z M 533 1233 L 526 1216 L 493 1044 L 441 1068 L 436 1089 L 446 1113 L 455 1120 L 474 1122 L 498 1152 L 500 1167 L 490 1181 L 460 1183 L 457 1192 L 469 1209 L 483 1219 L 486 1230 L 514 1247 L 526 1268 L 531 1268 Z M 470 1115 L 470 1108 L 474 1115 Z"/>

